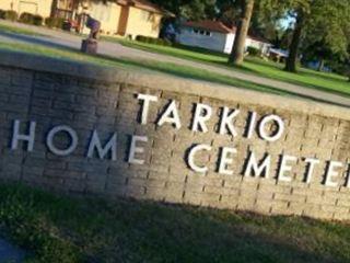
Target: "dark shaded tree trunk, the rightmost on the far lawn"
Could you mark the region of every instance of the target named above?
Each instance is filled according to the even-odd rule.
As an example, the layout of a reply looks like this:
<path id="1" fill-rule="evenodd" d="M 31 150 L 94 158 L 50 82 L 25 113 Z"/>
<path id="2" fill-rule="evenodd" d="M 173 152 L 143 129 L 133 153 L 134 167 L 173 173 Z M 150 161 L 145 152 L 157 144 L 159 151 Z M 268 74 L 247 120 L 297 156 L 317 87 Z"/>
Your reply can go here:
<path id="1" fill-rule="evenodd" d="M 289 56 L 285 60 L 285 68 L 284 70 L 289 72 L 296 72 L 296 61 L 298 61 L 298 52 L 299 52 L 299 45 L 301 42 L 301 36 L 303 33 L 303 26 L 304 26 L 304 13 L 302 10 L 299 11 L 295 28 L 293 31 L 293 37 L 292 42 L 289 46 Z"/>

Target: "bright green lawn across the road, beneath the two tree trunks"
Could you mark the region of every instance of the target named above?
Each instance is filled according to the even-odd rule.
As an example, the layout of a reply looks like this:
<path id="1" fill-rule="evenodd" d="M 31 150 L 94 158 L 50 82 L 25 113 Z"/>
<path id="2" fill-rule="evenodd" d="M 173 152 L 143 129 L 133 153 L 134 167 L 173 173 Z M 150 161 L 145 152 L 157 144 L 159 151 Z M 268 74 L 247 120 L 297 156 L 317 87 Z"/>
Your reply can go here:
<path id="1" fill-rule="evenodd" d="M 168 46 L 160 46 L 154 44 L 133 42 L 133 41 L 125 41 L 115 37 L 105 37 L 106 41 L 118 42 L 125 46 L 170 55 L 173 57 L 213 64 L 223 68 L 232 69 L 232 67 L 228 66 L 228 55 L 206 50 L 202 48 L 196 47 L 168 47 Z M 242 72 L 258 75 L 261 77 L 267 77 L 275 80 L 285 81 L 289 83 L 294 83 L 299 85 L 303 85 L 306 88 L 319 89 L 329 92 L 337 92 L 345 95 L 350 95 L 350 82 L 348 82 L 348 78 L 335 73 L 327 72 L 318 72 L 311 69 L 300 68 L 298 73 L 291 73 L 283 71 L 283 65 L 265 61 L 259 58 L 247 58 L 242 67 L 234 67 L 234 70 L 238 70 Z"/>

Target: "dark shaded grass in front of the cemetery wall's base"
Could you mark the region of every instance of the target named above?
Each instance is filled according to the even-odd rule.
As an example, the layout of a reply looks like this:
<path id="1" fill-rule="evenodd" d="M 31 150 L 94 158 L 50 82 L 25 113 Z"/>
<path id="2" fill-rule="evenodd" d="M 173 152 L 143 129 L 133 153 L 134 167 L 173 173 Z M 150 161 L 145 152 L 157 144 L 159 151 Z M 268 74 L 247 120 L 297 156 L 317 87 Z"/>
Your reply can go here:
<path id="1" fill-rule="evenodd" d="M 0 184 L 4 238 L 27 262 L 349 262 L 347 224 Z"/>

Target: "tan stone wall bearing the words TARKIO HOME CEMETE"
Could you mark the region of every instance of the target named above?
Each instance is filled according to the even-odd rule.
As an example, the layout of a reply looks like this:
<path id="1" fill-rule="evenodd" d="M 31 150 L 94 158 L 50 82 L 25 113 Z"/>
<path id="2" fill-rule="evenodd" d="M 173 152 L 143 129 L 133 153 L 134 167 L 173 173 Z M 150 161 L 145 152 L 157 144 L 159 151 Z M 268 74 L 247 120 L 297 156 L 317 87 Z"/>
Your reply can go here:
<path id="1" fill-rule="evenodd" d="M 109 198 L 350 218 L 347 108 L 161 75 L 0 57 L 3 180 Z M 140 94 L 158 101 L 145 111 Z M 212 114 L 196 128 L 196 111 L 209 116 L 208 107 L 198 110 L 203 105 Z M 222 126 L 225 108 L 234 116 Z"/>

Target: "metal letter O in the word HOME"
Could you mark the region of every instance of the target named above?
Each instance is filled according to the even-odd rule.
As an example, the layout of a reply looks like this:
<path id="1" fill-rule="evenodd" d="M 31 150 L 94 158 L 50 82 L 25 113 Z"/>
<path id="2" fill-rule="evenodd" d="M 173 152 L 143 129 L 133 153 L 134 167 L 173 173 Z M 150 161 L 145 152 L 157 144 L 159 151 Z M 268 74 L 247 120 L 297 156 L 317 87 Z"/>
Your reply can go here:
<path id="1" fill-rule="evenodd" d="M 54 138 L 58 133 L 67 133 L 70 136 L 70 146 L 67 149 L 58 149 L 55 145 L 54 145 Z M 67 126 L 67 125 L 59 125 L 54 127 L 47 135 L 47 139 L 46 139 L 46 145 L 48 147 L 48 149 L 55 153 L 56 156 L 69 156 L 70 153 L 72 153 L 78 146 L 78 135 L 75 133 L 75 130 L 73 130 L 71 127 Z"/>

